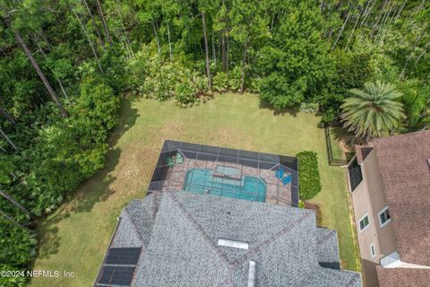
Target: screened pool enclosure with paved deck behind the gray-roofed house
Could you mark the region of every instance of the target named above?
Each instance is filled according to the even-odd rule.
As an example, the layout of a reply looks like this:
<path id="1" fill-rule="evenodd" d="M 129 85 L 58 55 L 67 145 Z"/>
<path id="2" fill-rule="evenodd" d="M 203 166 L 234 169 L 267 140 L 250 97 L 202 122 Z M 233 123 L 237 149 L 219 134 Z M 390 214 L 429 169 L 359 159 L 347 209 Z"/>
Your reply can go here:
<path id="1" fill-rule="evenodd" d="M 297 158 L 167 140 L 149 187 L 164 190 L 297 206 Z"/>

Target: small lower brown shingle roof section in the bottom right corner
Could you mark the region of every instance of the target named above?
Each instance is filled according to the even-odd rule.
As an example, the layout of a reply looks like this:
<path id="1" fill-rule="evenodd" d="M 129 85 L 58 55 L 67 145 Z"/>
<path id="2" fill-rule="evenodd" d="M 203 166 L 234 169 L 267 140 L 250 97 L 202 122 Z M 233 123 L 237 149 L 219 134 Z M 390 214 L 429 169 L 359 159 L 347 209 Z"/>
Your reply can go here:
<path id="1" fill-rule="evenodd" d="M 428 287 L 430 269 L 376 266 L 380 287 Z"/>

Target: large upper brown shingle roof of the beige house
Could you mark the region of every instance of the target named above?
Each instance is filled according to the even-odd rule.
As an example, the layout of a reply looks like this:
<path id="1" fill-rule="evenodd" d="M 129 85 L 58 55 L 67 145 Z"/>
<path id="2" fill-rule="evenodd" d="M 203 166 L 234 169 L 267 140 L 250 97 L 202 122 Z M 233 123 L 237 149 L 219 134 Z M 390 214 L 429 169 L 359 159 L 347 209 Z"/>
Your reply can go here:
<path id="1" fill-rule="evenodd" d="M 430 265 L 430 130 L 374 141 L 400 259 Z"/>

